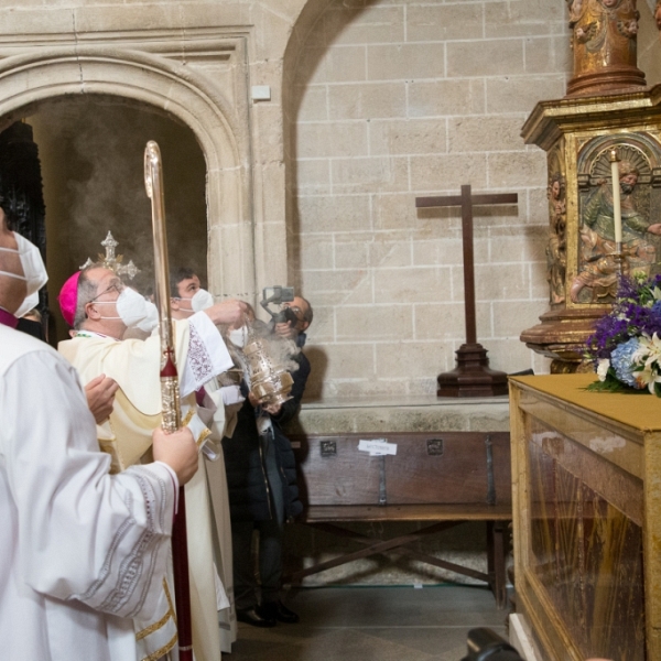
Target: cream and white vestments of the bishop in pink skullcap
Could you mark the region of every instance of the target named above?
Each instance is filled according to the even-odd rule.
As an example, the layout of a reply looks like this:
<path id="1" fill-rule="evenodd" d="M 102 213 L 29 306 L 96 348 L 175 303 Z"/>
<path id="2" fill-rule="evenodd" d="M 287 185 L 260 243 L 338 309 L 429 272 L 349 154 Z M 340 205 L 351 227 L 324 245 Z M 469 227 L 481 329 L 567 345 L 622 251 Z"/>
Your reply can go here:
<path id="1" fill-rule="evenodd" d="M 174 327 L 181 398 L 185 402 L 182 414 L 202 444 L 210 432 L 196 414 L 195 390 L 234 367 L 234 362 L 218 329 L 205 313 L 175 322 Z M 84 383 L 100 373 L 117 381 L 119 390 L 112 413 L 99 430 L 99 444 L 112 454 L 119 469 L 139 462 L 151 446 L 152 430 L 161 423 L 159 336 L 117 342 L 80 332 L 73 339 L 59 343 L 58 349 L 76 367 Z M 218 661 L 218 602 L 223 607 L 228 602 L 221 586 L 217 598 L 209 497 L 202 457 L 199 462 L 201 469 L 186 485 L 193 648 L 196 661 Z M 144 625 L 141 622 L 137 629 L 147 629 Z M 149 630 L 156 640 L 158 630 L 153 625 Z M 160 649 L 159 644 L 160 639 L 148 651 L 154 647 Z"/>

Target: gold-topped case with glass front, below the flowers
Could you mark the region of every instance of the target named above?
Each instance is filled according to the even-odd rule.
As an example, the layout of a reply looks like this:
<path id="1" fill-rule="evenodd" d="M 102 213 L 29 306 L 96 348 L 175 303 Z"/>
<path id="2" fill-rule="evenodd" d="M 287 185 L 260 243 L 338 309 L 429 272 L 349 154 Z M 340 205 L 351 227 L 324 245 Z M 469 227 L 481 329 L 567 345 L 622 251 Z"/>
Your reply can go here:
<path id="1" fill-rule="evenodd" d="M 661 658 L 661 410 L 510 381 L 517 611 L 540 658 Z"/>

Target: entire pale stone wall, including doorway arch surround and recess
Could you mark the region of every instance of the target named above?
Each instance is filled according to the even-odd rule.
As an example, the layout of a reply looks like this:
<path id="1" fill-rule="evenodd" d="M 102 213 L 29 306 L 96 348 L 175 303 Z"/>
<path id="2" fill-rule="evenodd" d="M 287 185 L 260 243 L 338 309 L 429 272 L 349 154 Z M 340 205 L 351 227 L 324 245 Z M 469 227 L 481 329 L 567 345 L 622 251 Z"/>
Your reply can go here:
<path id="1" fill-rule="evenodd" d="M 210 288 L 256 302 L 289 273 L 315 306 L 308 394 L 432 394 L 464 337 L 460 231 L 414 198 L 463 183 L 519 194 L 476 218 L 479 339 L 545 368 L 518 339 L 546 307 L 544 156 L 519 130 L 564 94 L 566 23 L 560 0 L 3 0 L 0 128 L 61 95 L 171 113 L 207 166 Z"/>

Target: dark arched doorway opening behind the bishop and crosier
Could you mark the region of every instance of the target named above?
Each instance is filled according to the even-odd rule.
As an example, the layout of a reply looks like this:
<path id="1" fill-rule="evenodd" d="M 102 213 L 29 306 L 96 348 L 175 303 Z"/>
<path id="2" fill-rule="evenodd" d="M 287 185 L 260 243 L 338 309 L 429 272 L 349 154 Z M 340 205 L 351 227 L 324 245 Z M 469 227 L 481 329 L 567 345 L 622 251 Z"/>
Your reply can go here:
<path id="1" fill-rule="evenodd" d="M 148 140 L 163 154 L 171 264 L 191 266 L 206 280 L 206 164 L 188 127 L 153 107 L 105 95 L 47 99 L 25 120 L 40 153 L 52 303 L 71 273 L 104 253 L 99 242 L 108 231 L 123 262 L 132 260 L 141 270 L 139 289 L 151 285 L 151 209 L 142 166 Z M 54 318 L 56 339 L 63 339 L 67 329 L 58 314 Z"/>

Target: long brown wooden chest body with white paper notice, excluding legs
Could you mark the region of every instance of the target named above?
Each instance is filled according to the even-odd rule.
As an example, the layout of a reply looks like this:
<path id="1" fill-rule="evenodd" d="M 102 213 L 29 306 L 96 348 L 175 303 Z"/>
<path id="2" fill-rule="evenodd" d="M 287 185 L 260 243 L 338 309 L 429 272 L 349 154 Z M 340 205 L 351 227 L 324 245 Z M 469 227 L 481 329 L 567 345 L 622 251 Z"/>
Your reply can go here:
<path id="1" fill-rule="evenodd" d="M 397 454 L 370 456 L 383 438 Z M 511 502 L 508 432 L 292 436 L 307 506 Z"/>

